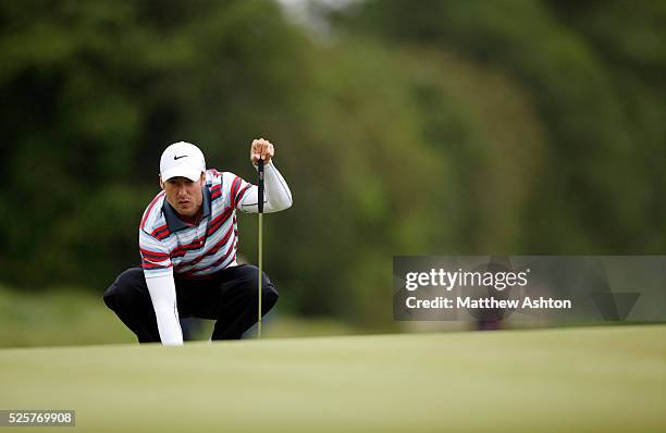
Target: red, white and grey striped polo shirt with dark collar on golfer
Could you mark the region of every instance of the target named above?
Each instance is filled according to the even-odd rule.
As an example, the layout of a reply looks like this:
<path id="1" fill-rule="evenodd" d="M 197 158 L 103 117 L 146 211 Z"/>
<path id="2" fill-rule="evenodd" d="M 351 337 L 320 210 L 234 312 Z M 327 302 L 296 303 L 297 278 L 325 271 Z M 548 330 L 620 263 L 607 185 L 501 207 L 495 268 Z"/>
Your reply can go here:
<path id="1" fill-rule="evenodd" d="M 251 185 L 233 173 L 206 172 L 201 219 L 181 221 L 164 191 L 148 205 L 139 224 L 139 251 L 147 279 L 206 277 L 236 263 L 236 208 Z"/>

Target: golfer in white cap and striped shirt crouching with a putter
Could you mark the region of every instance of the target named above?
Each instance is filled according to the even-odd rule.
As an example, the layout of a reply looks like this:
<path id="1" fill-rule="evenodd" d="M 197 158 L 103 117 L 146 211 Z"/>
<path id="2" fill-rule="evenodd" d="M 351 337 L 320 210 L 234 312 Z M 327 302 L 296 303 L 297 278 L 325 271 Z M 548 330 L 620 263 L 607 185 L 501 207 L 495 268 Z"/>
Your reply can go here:
<path id="1" fill-rule="evenodd" d="M 264 212 L 292 206 L 292 193 L 272 163 L 274 147 L 261 138 L 250 161 L 264 161 Z M 162 190 L 139 224 L 141 268 L 120 274 L 104 302 L 139 343 L 182 345 L 180 318 L 215 320 L 211 339 L 235 339 L 257 320 L 259 271 L 238 264 L 236 210 L 258 212 L 258 187 L 229 172 L 206 170 L 199 148 L 180 141 L 160 160 Z M 278 301 L 262 275 L 261 313 Z"/>

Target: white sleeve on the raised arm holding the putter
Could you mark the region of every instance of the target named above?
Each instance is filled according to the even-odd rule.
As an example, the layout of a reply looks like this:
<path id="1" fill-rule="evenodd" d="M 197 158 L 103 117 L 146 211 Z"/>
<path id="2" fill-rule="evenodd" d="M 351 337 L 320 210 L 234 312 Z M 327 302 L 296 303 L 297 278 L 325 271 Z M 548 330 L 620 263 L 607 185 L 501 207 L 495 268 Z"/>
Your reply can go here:
<path id="1" fill-rule="evenodd" d="M 247 185 L 248 187 L 236 201 L 236 209 L 257 213 L 259 212 L 259 187 L 251 184 Z M 292 191 L 272 162 L 263 166 L 263 211 L 266 213 L 279 212 L 293 205 Z"/>

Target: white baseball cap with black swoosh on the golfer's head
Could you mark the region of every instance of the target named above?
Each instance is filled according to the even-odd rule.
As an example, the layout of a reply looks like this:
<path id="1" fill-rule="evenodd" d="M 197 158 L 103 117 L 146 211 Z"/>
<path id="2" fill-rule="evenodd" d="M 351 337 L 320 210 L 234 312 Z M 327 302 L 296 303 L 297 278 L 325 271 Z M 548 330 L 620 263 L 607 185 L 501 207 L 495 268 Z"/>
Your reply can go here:
<path id="1" fill-rule="evenodd" d="M 162 182 L 183 176 L 196 182 L 206 171 L 206 159 L 198 147 L 192 143 L 178 141 L 169 146 L 160 159 Z"/>

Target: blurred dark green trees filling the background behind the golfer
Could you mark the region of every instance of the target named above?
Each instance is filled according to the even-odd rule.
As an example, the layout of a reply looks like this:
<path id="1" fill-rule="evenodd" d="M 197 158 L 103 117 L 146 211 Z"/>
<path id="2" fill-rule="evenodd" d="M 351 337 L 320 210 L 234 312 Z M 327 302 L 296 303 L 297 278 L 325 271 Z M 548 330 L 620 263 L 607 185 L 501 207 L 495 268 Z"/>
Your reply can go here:
<path id="1" fill-rule="evenodd" d="M 666 3 L 326 4 L 0 1 L 0 282 L 101 305 L 162 149 L 251 180 L 259 136 L 293 316 L 390 326 L 394 255 L 666 251 Z"/>

